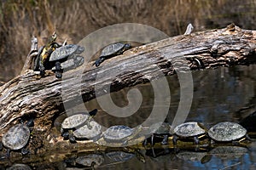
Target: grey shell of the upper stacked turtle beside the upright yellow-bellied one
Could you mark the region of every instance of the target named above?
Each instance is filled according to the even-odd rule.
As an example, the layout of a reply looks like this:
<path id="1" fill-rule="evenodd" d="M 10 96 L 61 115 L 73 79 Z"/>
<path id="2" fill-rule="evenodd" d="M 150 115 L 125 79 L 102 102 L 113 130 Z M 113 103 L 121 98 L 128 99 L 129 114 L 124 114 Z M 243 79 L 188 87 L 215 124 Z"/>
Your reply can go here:
<path id="1" fill-rule="evenodd" d="M 72 54 L 81 54 L 84 51 L 84 47 L 75 44 L 68 44 L 60 48 L 56 48 L 49 57 L 49 61 L 55 61 L 59 59 L 66 59 Z"/>

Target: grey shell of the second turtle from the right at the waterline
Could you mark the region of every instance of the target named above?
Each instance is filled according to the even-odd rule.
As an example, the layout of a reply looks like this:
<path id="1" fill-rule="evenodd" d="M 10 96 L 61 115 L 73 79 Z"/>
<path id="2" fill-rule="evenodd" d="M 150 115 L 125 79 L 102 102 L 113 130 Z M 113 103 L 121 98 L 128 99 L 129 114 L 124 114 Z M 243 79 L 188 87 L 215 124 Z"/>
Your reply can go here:
<path id="1" fill-rule="evenodd" d="M 198 125 L 198 122 L 184 122 L 174 128 L 174 133 L 180 137 L 193 137 L 206 131 Z"/>

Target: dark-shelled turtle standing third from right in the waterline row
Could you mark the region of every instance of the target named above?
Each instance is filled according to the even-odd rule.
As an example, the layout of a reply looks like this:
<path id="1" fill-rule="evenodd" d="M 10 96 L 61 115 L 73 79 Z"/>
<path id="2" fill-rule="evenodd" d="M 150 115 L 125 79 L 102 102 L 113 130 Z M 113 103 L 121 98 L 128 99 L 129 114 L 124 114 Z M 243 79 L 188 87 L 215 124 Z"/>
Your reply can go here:
<path id="1" fill-rule="evenodd" d="M 163 138 L 161 144 L 168 144 L 168 137 L 171 134 L 171 125 L 167 122 L 156 122 L 149 127 L 149 132 L 151 133 L 151 145 L 154 145 L 154 137 Z M 147 144 L 148 139 L 145 139 L 143 145 Z"/>

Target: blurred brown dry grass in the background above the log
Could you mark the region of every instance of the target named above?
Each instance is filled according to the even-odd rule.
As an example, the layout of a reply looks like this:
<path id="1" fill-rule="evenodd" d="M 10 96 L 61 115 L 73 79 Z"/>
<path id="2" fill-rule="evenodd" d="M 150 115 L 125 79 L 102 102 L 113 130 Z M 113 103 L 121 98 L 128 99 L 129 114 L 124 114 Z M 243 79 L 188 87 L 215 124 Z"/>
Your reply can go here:
<path id="1" fill-rule="evenodd" d="M 183 33 L 189 22 L 197 31 L 230 22 L 255 29 L 255 10 L 255 0 L 2 0 L 0 81 L 20 73 L 32 35 L 39 45 L 53 31 L 59 42 L 76 43 L 92 31 L 124 22 L 154 26 L 170 36 Z"/>

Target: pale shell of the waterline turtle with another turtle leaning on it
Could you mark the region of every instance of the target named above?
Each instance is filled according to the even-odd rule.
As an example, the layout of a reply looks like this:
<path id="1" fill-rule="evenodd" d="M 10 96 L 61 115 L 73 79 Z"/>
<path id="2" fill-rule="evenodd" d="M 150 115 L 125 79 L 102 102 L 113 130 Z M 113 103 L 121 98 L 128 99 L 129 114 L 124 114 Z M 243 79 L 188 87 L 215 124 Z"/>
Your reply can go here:
<path id="1" fill-rule="evenodd" d="M 96 140 L 102 134 L 102 126 L 95 122 L 90 121 L 90 127 L 85 124 L 83 127 L 79 127 L 73 132 L 74 137 L 77 139 L 93 139 Z"/>

